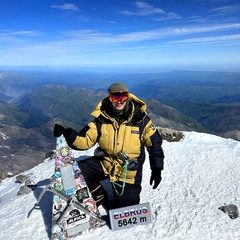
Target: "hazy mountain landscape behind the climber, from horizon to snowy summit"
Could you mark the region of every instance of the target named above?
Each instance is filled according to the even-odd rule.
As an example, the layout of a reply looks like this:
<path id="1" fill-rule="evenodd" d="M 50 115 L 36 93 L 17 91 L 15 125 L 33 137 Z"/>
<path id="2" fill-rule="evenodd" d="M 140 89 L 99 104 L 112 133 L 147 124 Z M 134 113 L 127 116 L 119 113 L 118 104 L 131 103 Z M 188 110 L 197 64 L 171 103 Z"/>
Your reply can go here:
<path id="1" fill-rule="evenodd" d="M 0 72 L 0 172 L 16 174 L 43 161 L 55 148 L 55 123 L 84 127 L 111 79 L 124 79 L 157 126 L 240 140 L 240 73 Z"/>

